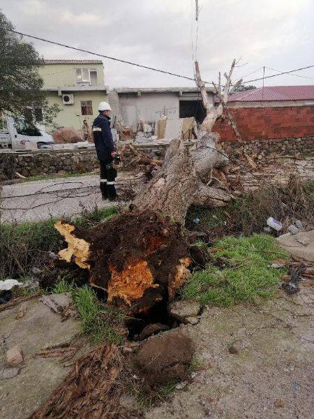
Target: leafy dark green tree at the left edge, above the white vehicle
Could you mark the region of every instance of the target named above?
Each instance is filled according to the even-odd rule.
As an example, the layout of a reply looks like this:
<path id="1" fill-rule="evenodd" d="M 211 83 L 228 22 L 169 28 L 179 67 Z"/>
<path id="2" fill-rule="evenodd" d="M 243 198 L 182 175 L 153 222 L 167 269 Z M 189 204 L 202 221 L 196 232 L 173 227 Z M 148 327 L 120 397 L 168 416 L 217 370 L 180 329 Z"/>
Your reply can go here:
<path id="1" fill-rule="evenodd" d="M 50 124 L 59 106 L 48 106 L 45 100 L 43 79 L 38 73 L 43 59 L 12 29 L 13 24 L 0 11 L 0 112 L 19 117 L 26 109 L 40 108 L 44 121 Z"/>

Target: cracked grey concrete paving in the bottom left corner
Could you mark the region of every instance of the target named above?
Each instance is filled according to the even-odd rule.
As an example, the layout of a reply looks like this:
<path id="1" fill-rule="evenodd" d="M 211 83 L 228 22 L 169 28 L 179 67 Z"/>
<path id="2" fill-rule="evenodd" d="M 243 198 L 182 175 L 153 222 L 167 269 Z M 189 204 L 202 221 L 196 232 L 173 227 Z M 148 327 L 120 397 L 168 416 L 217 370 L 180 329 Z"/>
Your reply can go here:
<path id="1" fill-rule="evenodd" d="M 22 318 L 16 318 L 19 309 L 16 306 L 0 312 L 0 370 L 8 367 L 8 348 L 20 346 L 24 357 L 17 376 L 0 380 L 0 417 L 7 419 L 27 418 L 70 370 L 63 367 L 60 358 L 40 358 L 35 356 L 36 352 L 47 346 L 66 344 L 80 332 L 79 321 L 73 318 L 62 321 L 59 314 L 38 298 L 27 302 Z"/>

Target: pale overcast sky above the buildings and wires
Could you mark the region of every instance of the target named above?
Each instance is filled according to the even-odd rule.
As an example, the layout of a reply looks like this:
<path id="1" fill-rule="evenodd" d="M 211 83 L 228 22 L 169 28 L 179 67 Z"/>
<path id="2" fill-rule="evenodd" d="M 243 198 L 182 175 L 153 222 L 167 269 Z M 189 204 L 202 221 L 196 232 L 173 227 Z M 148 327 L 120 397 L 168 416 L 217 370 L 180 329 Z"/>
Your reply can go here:
<path id="1" fill-rule="evenodd" d="M 314 64 L 313 0 L 1 0 L 16 29 L 112 57 L 193 77 L 193 54 L 202 78 L 216 80 L 233 58 L 234 79 L 262 77 Z M 34 41 L 47 59 L 96 59 Z M 192 46 L 193 45 L 193 46 Z M 193 82 L 103 59 L 110 87 L 178 87 Z M 260 68 L 260 70 L 258 70 Z M 257 71 L 258 70 L 258 71 Z M 314 84 L 314 68 L 265 80 L 265 85 Z M 254 82 L 260 87 L 261 82 Z"/>

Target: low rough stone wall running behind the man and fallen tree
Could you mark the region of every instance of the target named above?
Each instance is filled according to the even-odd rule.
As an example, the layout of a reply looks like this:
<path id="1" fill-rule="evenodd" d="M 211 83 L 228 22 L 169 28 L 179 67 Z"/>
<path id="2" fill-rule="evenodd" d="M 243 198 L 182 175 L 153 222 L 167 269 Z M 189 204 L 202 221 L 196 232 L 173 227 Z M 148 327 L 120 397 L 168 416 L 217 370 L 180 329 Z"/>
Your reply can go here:
<path id="1" fill-rule="evenodd" d="M 244 158 L 240 152 L 239 142 L 226 141 L 221 145 L 231 159 Z M 167 145 L 138 145 L 136 148 L 152 159 L 163 159 Z M 267 157 L 283 155 L 313 156 L 314 137 L 246 141 L 244 150 L 260 161 L 266 160 Z M 126 153 L 124 159 L 126 170 L 133 169 L 134 166 L 129 163 L 134 159 L 133 153 Z M 99 163 L 94 149 L 0 153 L 0 179 L 13 179 L 16 177 L 15 172 L 29 177 L 52 173 L 92 172 L 98 168 Z"/>

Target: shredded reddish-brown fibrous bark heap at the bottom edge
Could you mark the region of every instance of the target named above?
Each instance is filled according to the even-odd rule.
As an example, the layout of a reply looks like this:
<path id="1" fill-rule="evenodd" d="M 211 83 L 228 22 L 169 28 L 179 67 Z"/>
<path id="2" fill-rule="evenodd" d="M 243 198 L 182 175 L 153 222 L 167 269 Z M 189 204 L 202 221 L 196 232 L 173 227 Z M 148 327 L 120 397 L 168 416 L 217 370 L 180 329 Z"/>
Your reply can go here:
<path id="1" fill-rule="evenodd" d="M 82 356 L 66 379 L 29 419 L 139 418 L 119 404 L 122 360 L 114 345 L 103 345 Z"/>

